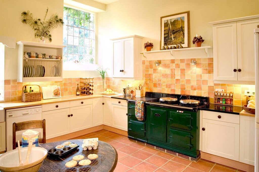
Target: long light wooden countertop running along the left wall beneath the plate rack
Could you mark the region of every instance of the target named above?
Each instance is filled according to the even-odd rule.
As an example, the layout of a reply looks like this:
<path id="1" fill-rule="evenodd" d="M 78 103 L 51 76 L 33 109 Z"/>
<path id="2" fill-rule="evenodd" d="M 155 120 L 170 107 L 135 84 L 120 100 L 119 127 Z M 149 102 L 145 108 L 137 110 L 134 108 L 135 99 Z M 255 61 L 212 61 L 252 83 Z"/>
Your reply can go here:
<path id="1" fill-rule="evenodd" d="M 28 106 L 37 106 L 37 105 L 44 105 L 44 104 L 51 104 L 51 103 L 59 103 L 59 102 L 65 102 L 65 101 L 73 101 L 73 100 L 83 100 L 83 99 L 91 99 L 91 98 L 97 98 L 97 97 L 113 97 L 113 96 L 120 96 L 122 94 L 115 94 L 111 96 L 105 96 L 100 93 L 96 93 L 93 95 L 88 96 L 64 96 L 61 98 L 54 98 L 54 99 L 45 99 L 41 101 L 31 101 L 31 102 L 22 102 L 22 101 L 12 101 L 12 102 L 6 102 L 6 103 L 0 103 L 0 110 L 1 109 L 13 109 L 13 108 L 19 108 L 19 107 L 28 107 Z"/>

